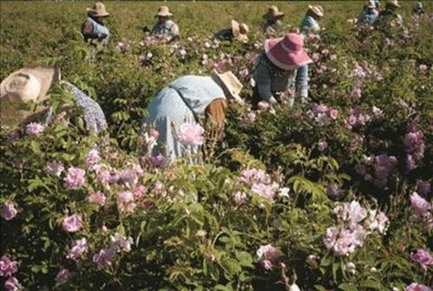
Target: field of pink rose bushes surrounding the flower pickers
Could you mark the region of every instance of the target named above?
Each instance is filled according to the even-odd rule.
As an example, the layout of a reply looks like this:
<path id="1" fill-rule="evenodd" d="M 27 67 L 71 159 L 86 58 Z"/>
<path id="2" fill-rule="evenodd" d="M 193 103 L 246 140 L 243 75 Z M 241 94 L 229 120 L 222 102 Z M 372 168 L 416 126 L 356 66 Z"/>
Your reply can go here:
<path id="1" fill-rule="evenodd" d="M 385 4 L 385 1 L 382 1 Z M 167 2 L 180 40 L 145 35 L 163 2 L 107 1 L 108 47 L 80 35 L 93 2 L 1 1 L 0 79 L 57 66 L 105 112 L 80 109 L 0 131 L 0 285 L 5 290 L 393 290 L 433 287 L 433 2 L 402 26 L 356 26 L 364 2 Z M 309 100 L 253 107 L 262 15 L 284 36 L 309 4 Z M 245 44 L 213 39 L 237 19 Z M 223 140 L 164 166 L 143 130 L 170 80 L 232 70 Z M 73 102 L 59 86 L 47 105 Z"/>

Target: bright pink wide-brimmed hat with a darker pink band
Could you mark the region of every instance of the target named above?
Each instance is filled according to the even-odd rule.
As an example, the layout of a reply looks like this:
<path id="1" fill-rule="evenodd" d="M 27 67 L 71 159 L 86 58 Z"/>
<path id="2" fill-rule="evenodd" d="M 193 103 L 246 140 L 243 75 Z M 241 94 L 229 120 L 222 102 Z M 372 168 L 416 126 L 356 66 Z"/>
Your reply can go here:
<path id="1" fill-rule="evenodd" d="M 266 39 L 264 52 L 273 65 L 285 70 L 294 70 L 313 63 L 304 50 L 304 36 L 294 33 Z"/>

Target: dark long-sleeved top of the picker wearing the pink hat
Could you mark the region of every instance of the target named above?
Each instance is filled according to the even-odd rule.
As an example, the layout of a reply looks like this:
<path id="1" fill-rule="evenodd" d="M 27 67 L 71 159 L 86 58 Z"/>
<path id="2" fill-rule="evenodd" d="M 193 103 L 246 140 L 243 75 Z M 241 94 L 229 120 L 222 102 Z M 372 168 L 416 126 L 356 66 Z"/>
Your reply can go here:
<path id="1" fill-rule="evenodd" d="M 262 53 L 256 59 L 253 78 L 260 99 L 270 100 L 274 94 L 284 92 L 288 88 L 295 88 L 297 95 L 303 99 L 308 97 L 307 65 L 294 71 L 287 71 L 273 65 Z"/>

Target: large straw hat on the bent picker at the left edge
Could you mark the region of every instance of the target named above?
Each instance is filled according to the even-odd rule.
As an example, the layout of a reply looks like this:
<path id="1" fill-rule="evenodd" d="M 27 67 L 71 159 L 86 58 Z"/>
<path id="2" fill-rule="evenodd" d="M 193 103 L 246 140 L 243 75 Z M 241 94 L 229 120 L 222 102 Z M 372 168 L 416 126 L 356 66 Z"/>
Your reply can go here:
<path id="1" fill-rule="evenodd" d="M 2 123 L 19 123 L 30 114 L 34 114 L 35 112 L 28 112 L 20 107 L 29 102 L 40 103 L 49 98 L 47 92 L 51 84 L 59 78 L 59 69 L 42 67 L 21 68 L 6 77 L 0 84 Z"/>

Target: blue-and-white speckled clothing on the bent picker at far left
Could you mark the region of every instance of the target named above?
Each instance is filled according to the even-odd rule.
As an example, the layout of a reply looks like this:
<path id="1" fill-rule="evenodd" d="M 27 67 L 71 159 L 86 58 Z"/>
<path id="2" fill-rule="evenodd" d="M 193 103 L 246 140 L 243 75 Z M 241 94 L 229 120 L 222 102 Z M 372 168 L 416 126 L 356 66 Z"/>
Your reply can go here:
<path id="1" fill-rule="evenodd" d="M 91 99 L 83 91 L 67 81 L 60 81 L 60 84 L 65 84 L 71 94 L 75 97 L 77 105 L 84 110 L 84 120 L 86 121 L 86 129 L 91 134 L 98 134 L 102 130 L 107 130 L 107 120 L 105 114 L 100 108 L 97 101 Z M 43 118 L 42 123 L 48 124 L 52 121 L 53 110 L 50 108 Z"/>

